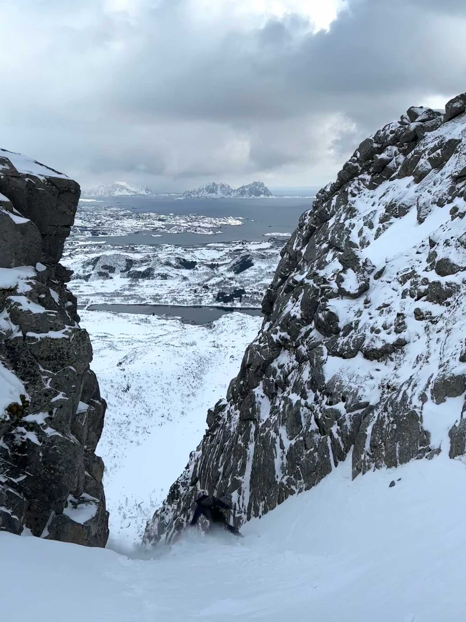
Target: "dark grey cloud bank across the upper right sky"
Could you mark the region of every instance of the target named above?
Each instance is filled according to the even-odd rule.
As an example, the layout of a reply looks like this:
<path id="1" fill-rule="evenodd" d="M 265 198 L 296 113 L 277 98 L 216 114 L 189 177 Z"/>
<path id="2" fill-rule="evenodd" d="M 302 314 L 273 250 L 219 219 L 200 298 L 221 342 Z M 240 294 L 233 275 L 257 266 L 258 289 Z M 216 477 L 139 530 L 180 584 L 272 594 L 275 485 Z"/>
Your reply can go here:
<path id="1" fill-rule="evenodd" d="M 297 16 L 205 42 L 185 32 L 177 42 L 155 27 L 144 46 L 155 60 L 141 62 L 139 50 L 129 55 L 114 75 L 113 101 L 142 114 L 241 124 L 311 111 L 377 116 L 375 102 L 386 114 L 406 96 L 462 88 L 463 21 L 425 6 L 419 12 L 416 0 L 355 0 L 349 7 L 330 32 L 316 35 Z"/>

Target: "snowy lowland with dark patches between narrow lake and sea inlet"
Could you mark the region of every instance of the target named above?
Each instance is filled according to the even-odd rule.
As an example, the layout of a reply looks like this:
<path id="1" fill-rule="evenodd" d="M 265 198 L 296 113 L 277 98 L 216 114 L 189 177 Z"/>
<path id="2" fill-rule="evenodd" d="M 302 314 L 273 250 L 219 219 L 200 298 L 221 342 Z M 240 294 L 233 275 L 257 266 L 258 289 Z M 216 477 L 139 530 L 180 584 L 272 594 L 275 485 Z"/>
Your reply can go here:
<path id="1" fill-rule="evenodd" d="M 212 305 L 219 292 L 244 290 L 227 307 L 260 307 L 283 239 L 205 246 L 111 246 L 69 241 L 63 264 L 80 304 Z"/>

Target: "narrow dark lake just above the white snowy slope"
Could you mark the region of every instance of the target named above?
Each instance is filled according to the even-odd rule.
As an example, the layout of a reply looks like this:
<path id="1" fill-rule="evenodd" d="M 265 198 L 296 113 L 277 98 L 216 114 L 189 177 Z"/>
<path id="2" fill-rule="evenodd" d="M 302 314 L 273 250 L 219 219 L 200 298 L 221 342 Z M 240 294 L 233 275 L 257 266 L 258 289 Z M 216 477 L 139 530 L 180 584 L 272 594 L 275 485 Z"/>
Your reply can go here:
<path id="1" fill-rule="evenodd" d="M 78 305 L 78 310 L 85 309 Z M 161 315 L 165 318 L 180 318 L 186 324 L 208 324 L 225 315 L 225 313 L 246 313 L 262 317 L 260 309 L 236 309 L 228 307 L 176 307 L 175 305 L 89 305 L 87 311 L 112 311 L 114 313 L 143 313 L 144 315 Z"/>

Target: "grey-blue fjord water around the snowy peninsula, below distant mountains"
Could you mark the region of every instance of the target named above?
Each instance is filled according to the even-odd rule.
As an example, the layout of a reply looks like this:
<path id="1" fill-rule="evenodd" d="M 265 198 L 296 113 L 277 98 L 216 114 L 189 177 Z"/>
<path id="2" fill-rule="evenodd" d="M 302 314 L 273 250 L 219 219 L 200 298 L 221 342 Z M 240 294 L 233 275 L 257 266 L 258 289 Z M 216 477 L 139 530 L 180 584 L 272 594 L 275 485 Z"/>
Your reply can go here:
<path id="1" fill-rule="evenodd" d="M 208 244 L 229 242 L 238 239 L 248 241 L 266 240 L 266 233 L 292 233 L 298 225 L 299 216 L 308 210 L 312 198 L 263 198 L 263 199 L 183 199 L 176 197 L 98 197 L 101 205 L 121 207 L 134 212 L 153 211 L 158 214 L 188 215 L 200 214 L 212 218 L 234 216 L 242 220 L 240 226 L 222 226 L 213 231 L 221 234 L 134 233 L 109 238 L 107 244 Z"/>

